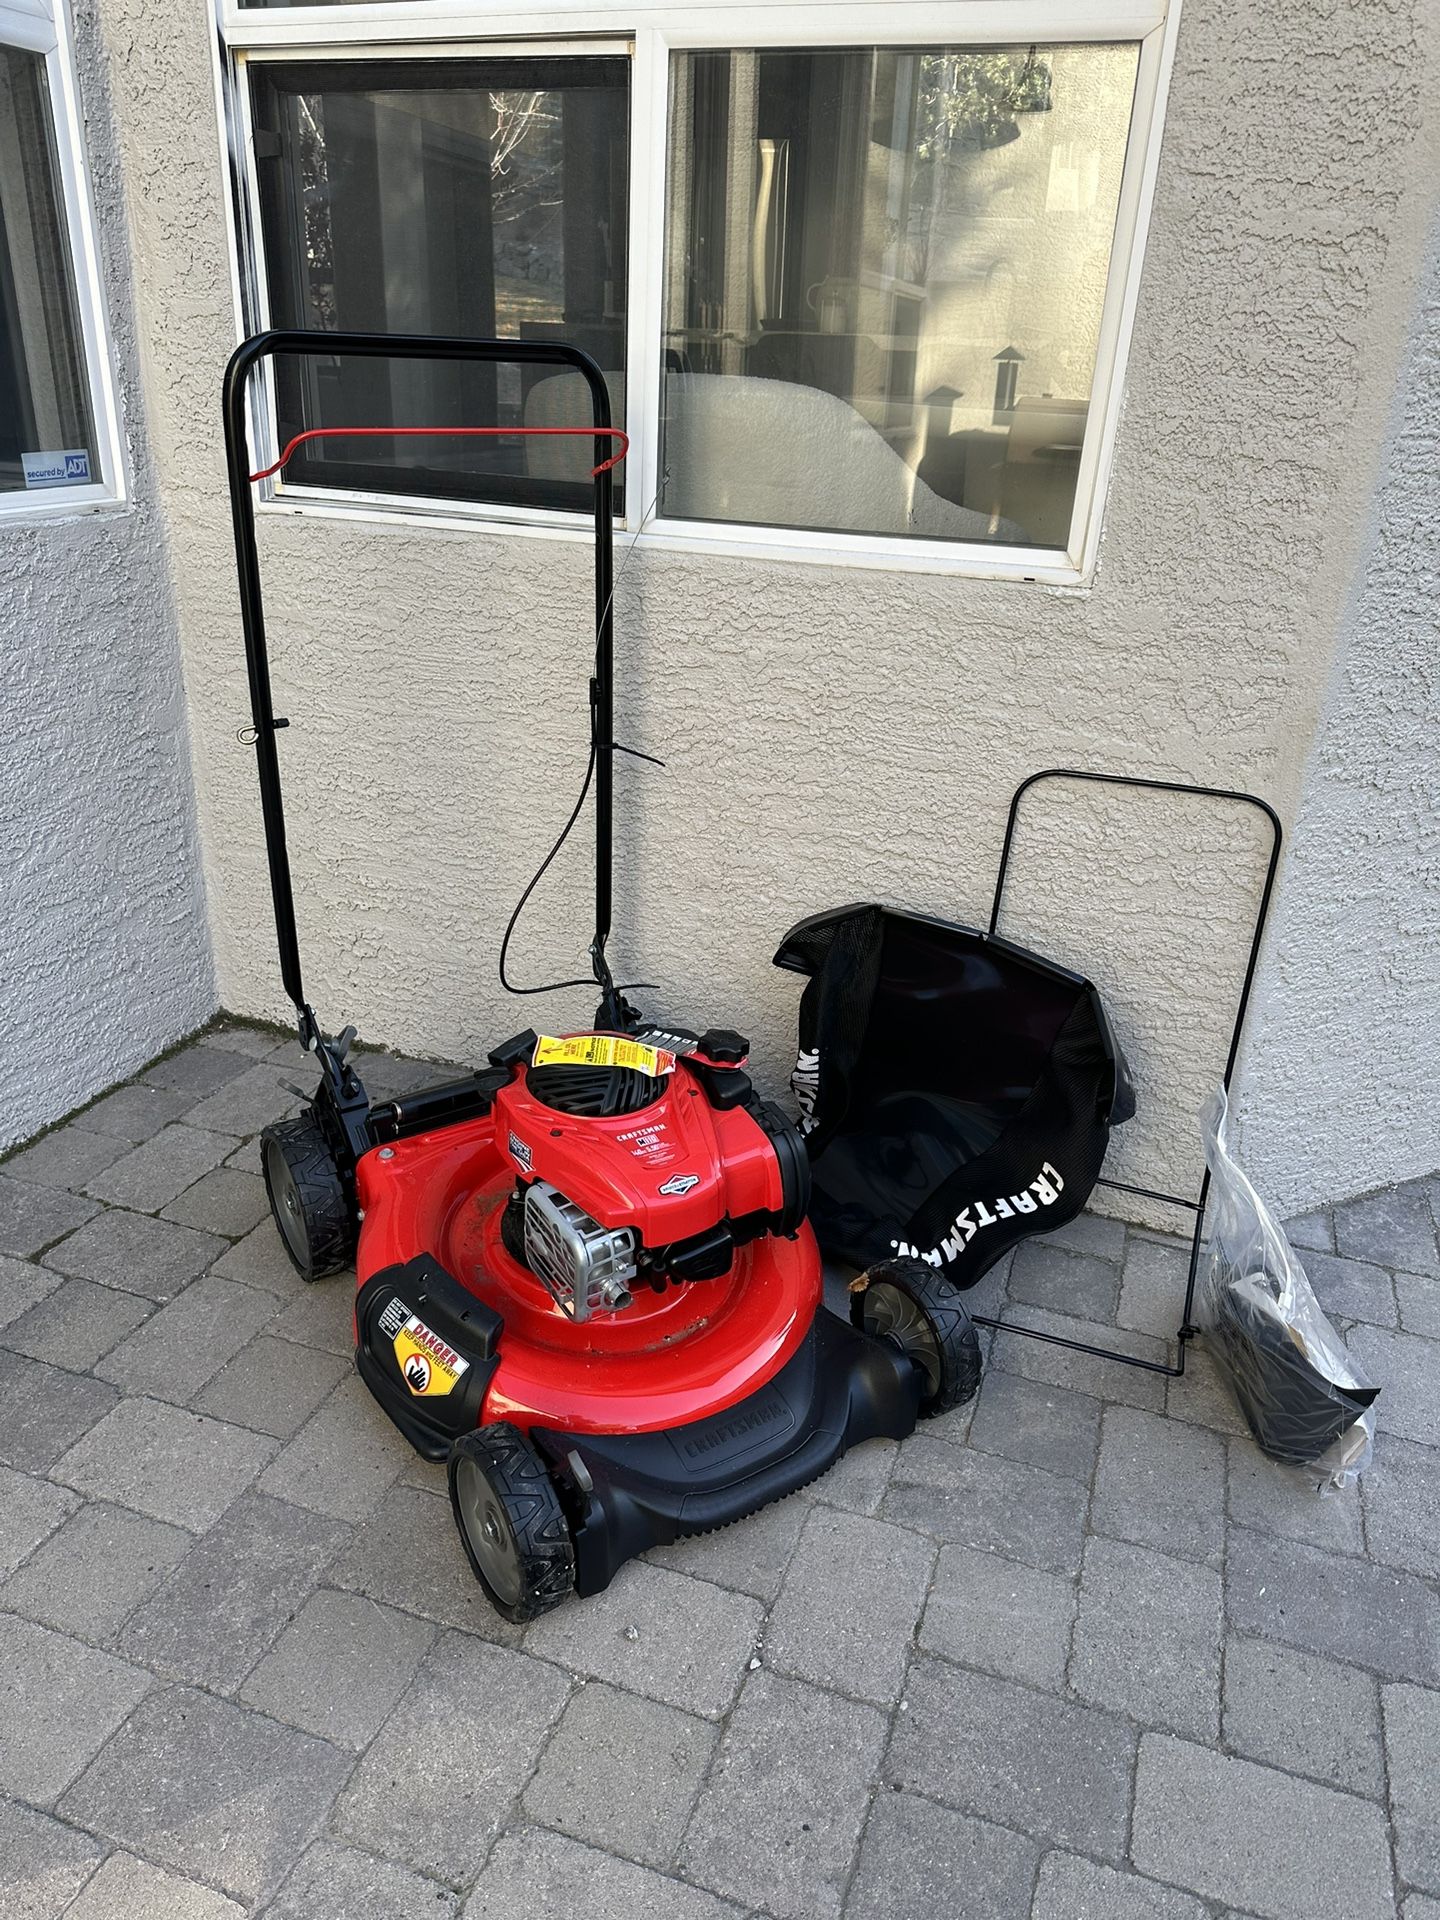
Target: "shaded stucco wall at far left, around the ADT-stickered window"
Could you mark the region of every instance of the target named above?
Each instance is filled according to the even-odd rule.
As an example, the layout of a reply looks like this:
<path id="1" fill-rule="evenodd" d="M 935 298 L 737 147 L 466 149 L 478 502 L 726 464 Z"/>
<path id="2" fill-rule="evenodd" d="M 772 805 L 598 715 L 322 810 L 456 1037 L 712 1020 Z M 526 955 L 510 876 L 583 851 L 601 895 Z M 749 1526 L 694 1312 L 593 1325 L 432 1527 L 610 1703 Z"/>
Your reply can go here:
<path id="1" fill-rule="evenodd" d="M 0 524 L 0 1148 L 215 1010 L 106 60 L 81 98 L 132 501 Z"/>

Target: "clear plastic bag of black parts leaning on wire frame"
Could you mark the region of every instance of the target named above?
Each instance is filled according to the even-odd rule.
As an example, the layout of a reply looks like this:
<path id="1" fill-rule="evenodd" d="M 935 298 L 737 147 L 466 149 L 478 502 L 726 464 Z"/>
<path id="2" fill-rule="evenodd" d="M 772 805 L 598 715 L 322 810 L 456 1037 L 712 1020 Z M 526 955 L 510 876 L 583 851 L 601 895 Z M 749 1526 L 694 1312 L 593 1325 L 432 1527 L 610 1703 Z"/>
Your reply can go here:
<path id="1" fill-rule="evenodd" d="M 1321 1486 L 1348 1486 L 1371 1459 L 1379 1386 L 1346 1354 L 1290 1242 L 1231 1160 L 1225 1117 L 1217 1091 L 1202 1121 L 1210 1242 L 1198 1319 L 1256 1446 Z"/>

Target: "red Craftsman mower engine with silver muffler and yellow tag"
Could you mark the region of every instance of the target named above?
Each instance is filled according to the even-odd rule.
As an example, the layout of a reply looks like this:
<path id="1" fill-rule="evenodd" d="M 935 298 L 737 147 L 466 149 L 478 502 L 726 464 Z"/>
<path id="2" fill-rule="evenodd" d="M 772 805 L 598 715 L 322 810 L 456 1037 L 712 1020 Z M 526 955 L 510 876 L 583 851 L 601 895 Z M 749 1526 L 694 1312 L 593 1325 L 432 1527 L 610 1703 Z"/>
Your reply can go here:
<path id="1" fill-rule="evenodd" d="M 664 1044 L 659 1044 L 664 1043 Z M 737 1033 L 520 1035 L 497 1064 L 495 1137 L 515 1165 L 507 1252 L 574 1321 L 636 1288 L 720 1279 L 737 1246 L 799 1231 L 808 1158 L 760 1100 Z"/>

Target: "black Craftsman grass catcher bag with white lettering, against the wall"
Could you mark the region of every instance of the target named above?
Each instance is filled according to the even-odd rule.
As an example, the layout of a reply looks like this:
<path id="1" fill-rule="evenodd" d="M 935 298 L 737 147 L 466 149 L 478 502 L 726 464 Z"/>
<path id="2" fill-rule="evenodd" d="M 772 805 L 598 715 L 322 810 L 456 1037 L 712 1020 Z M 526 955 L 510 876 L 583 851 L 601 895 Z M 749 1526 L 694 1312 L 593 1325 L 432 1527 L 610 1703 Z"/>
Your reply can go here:
<path id="1" fill-rule="evenodd" d="M 1135 1096 L 1100 995 L 1023 947 L 885 906 L 791 927 L 793 1089 L 822 1252 L 912 1254 L 973 1286 L 1081 1212 Z"/>

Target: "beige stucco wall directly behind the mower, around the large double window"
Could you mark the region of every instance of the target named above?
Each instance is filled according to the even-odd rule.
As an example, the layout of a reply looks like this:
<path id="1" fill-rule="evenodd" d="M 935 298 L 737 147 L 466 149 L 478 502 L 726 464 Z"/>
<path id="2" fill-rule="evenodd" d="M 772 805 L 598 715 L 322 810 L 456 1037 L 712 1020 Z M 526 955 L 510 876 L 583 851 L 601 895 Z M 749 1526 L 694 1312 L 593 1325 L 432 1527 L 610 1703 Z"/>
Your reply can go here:
<path id="1" fill-rule="evenodd" d="M 278 1016 L 234 739 L 217 420 L 234 315 L 205 23 L 179 0 L 98 4 L 146 259 L 221 998 Z M 647 1004 L 749 1025 L 780 1079 L 795 983 L 768 960 L 785 925 L 858 897 L 979 918 L 1008 795 L 1056 760 L 1254 787 L 1294 816 L 1413 309 L 1438 35 L 1427 0 L 1187 0 L 1091 589 L 634 555 L 620 737 L 668 768 L 620 768 L 614 954 L 659 983 Z M 263 559 L 323 1018 L 470 1058 L 584 1018 L 584 995 L 507 1000 L 495 954 L 584 764 L 586 547 L 267 516 Z M 1258 852 L 1238 818 L 1091 791 L 1029 816 L 1006 927 L 1112 991 L 1142 1098 L 1121 1177 L 1194 1177 Z M 528 977 L 582 960 L 584 876 L 582 847 L 534 904 Z M 1300 1060 L 1306 1039 L 1284 1046 Z M 1332 1079 L 1313 1060 L 1248 1091 L 1256 1162 L 1294 1202 L 1317 1165 L 1290 1125 L 1306 1071 Z M 1354 1185 L 1338 1148 L 1323 1164 Z"/>

